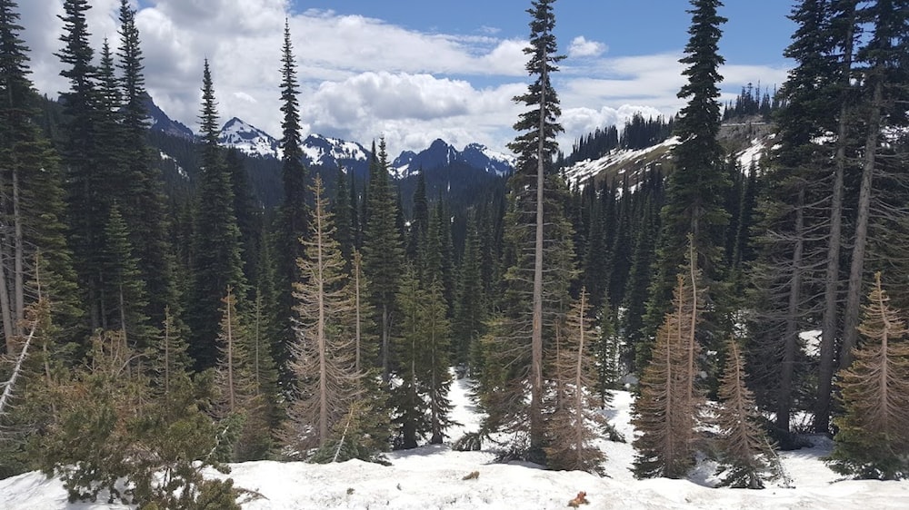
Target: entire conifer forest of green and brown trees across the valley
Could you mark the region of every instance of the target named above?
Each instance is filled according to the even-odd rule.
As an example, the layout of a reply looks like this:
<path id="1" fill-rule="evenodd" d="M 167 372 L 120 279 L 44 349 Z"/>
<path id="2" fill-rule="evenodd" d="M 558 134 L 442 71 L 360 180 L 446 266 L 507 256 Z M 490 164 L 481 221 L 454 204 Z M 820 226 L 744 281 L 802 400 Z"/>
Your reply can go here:
<path id="1" fill-rule="evenodd" d="M 448 391 L 466 375 L 487 418 L 455 446 L 504 433 L 504 458 L 600 471 L 597 410 L 628 387 L 636 476 L 684 477 L 705 452 L 725 484 L 758 488 L 774 444 L 810 430 L 834 435 L 845 474 L 904 477 L 909 5 L 800 2 L 786 83 L 724 107 L 722 4 L 692 0 L 684 109 L 564 156 L 555 2 L 530 4 L 514 174 L 470 207 L 431 196 L 422 173 L 403 197 L 382 139 L 365 181 L 311 172 L 285 24 L 284 195 L 263 210 L 244 159 L 218 144 L 207 60 L 199 172 L 176 188 L 145 124 L 128 2 L 95 54 L 90 5 L 65 0 L 68 88 L 50 125 L 18 6 L 0 0 L 0 376 L 20 375 L 0 407 L 0 476 L 40 468 L 74 498 L 226 508 L 234 488 L 203 467 L 384 462 L 457 439 Z M 721 122 L 754 114 L 777 147 L 744 168 Z M 565 180 L 572 162 L 670 136 L 664 165 Z"/>

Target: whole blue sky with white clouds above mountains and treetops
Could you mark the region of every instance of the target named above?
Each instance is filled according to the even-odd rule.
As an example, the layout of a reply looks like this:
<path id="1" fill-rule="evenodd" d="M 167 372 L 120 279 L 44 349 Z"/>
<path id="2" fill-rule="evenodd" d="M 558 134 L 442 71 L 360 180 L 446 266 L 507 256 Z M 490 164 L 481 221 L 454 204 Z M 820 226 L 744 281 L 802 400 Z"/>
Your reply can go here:
<path id="1" fill-rule="evenodd" d="M 215 80 L 219 113 L 280 132 L 280 50 L 289 19 L 305 133 L 389 152 L 421 150 L 435 138 L 458 148 L 481 142 L 505 152 L 528 78 L 522 52 L 529 0 L 142 0 L 136 23 L 149 92 L 168 114 L 195 129 L 203 59 Z M 55 95 L 63 0 L 20 1 L 35 85 Z M 92 0 L 95 48 L 115 42 L 119 0 Z M 794 25 L 790 0 L 727 0 L 720 52 L 725 97 L 748 82 L 781 84 Z M 635 112 L 673 114 L 684 83 L 690 17 L 684 0 L 558 0 L 560 52 L 554 76 L 563 109 L 564 150 L 596 127 Z"/>

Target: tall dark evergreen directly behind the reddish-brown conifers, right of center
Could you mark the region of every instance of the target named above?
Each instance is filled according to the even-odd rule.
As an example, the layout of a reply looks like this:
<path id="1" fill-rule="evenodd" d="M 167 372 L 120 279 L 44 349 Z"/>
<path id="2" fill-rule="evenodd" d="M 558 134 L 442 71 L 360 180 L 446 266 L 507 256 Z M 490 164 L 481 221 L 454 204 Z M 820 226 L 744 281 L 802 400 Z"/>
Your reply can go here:
<path id="1" fill-rule="evenodd" d="M 723 147 L 717 140 L 720 129 L 720 96 L 717 83 L 722 81 L 718 72 L 724 58 L 717 53 L 722 25 L 726 20 L 717 15 L 719 0 L 691 0 L 692 23 L 690 38 L 685 45 L 683 74 L 688 82 L 679 91 L 679 98 L 688 103 L 679 113 L 674 124 L 675 135 L 681 142 L 673 149 L 674 172 L 666 183 L 666 201 L 661 211 L 662 232 L 657 254 L 657 272 L 651 282 L 645 328 L 654 331 L 670 308 L 675 273 L 684 263 L 688 246 L 687 237 L 693 236 L 695 263 L 704 271 L 704 279 L 711 286 L 711 301 L 722 307 L 722 300 L 714 299 L 720 286 L 714 282 L 723 279 L 722 247 L 724 227 L 728 214 L 724 200 L 729 182 L 723 165 Z M 723 328 L 718 322 L 722 309 L 712 318 L 713 328 Z M 716 349 L 714 349 L 716 350 Z"/>

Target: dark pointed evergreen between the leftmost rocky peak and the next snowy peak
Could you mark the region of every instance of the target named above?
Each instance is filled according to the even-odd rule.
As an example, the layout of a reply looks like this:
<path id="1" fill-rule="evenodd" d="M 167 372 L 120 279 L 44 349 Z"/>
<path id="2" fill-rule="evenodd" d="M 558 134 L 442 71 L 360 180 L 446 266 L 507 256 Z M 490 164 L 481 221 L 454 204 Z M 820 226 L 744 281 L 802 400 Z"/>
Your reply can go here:
<path id="1" fill-rule="evenodd" d="M 231 178 L 224 155 L 218 147 L 218 120 L 212 74 L 205 61 L 200 115 L 202 172 L 196 198 L 193 242 L 193 288 L 187 307 L 192 329 L 190 352 L 197 368 L 215 364 L 215 337 L 218 335 L 220 302 L 231 287 L 245 295 L 240 230 L 234 211 Z"/>

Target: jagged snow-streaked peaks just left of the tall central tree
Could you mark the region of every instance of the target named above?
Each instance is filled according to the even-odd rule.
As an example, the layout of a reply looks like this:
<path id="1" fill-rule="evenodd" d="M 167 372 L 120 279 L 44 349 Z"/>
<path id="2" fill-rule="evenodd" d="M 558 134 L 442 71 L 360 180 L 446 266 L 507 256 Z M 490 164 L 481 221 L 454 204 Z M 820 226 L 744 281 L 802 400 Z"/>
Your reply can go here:
<path id="1" fill-rule="evenodd" d="M 404 179 L 421 169 L 432 172 L 440 168 L 464 166 L 502 176 L 512 172 L 513 165 L 514 158 L 490 151 L 480 143 L 470 143 L 464 151 L 458 151 L 453 145 L 436 139 L 422 152 L 401 152 L 392 162 L 391 172 L 396 178 Z"/>

